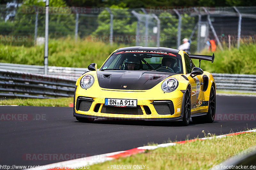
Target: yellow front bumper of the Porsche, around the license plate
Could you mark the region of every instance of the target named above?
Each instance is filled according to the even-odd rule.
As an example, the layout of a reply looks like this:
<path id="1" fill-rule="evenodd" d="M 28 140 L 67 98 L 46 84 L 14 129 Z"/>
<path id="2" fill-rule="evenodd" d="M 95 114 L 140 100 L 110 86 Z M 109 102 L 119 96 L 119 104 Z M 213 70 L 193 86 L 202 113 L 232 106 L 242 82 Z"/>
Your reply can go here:
<path id="1" fill-rule="evenodd" d="M 182 99 L 184 93 L 180 90 L 175 90 L 174 92 L 164 93 L 164 92 L 154 92 L 154 89 L 142 90 L 142 91 L 121 91 L 113 89 L 102 89 L 98 88 L 97 90 L 89 88 L 87 90 L 82 89 L 80 86 L 77 86 L 74 97 L 74 116 L 75 117 L 86 117 L 86 118 L 108 118 L 114 120 L 148 120 L 148 121 L 179 121 L 182 120 Z M 79 99 L 80 98 L 80 99 Z M 79 100 L 84 98 L 85 100 L 91 100 L 86 108 L 79 109 Z M 87 99 L 86 99 L 87 98 Z M 136 99 L 138 113 L 133 114 L 129 111 L 125 113 L 118 113 L 118 109 L 129 110 L 129 108 L 113 108 L 105 106 L 105 98 L 114 98 L 114 99 Z M 88 101 L 89 101 L 88 100 Z M 155 103 L 163 103 L 164 101 L 169 104 L 170 113 L 161 113 L 161 108 L 157 108 Z M 162 106 L 162 105 L 161 105 Z M 164 106 L 164 105 L 163 105 Z M 106 109 L 107 108 L 107 109 Z M 107 110 L 114 110 L 109 113 Z M 149 111 L 148 111 L 149 109 Z M 84 111 L 83 111 L 84 110 Z M 121 111 L 120 110 L 120 111 Z M 123 111 L 123 110 L 122 110 Z M 136 111 L 137 112 L 137 111 Z"/>

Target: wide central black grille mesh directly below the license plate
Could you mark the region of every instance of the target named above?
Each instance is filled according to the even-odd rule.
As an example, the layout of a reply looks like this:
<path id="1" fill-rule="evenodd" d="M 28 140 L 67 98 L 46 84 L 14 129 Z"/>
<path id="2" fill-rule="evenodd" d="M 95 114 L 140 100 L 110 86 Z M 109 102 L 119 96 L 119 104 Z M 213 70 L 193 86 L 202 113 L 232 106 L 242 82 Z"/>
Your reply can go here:
<path id="1" fill-rule="evenodd" d="M 101 113 L 123 114 L 123 115 L 143 115 L 140 106 L 137 107 L 111 107 L 103 105 Z"/>

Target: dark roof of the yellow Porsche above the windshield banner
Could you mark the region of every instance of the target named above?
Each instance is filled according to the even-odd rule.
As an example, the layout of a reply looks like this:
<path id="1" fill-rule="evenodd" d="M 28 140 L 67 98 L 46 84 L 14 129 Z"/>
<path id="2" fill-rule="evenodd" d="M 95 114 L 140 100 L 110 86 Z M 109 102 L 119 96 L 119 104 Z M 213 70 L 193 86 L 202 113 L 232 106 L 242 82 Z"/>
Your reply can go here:
<path id="1" fill-rule="evenodd" d="M 123 51 L 123 50 L 147 50 L 147 51 L 166 51 L 171 53 L 179 53 L 180 50 L 173 49 L 173 48 L 166 48 L 166 47 L 142 47 L 142 46 L 135 46 L 135 47 L 124 47 L 119 48 L 117 51 Z"/>

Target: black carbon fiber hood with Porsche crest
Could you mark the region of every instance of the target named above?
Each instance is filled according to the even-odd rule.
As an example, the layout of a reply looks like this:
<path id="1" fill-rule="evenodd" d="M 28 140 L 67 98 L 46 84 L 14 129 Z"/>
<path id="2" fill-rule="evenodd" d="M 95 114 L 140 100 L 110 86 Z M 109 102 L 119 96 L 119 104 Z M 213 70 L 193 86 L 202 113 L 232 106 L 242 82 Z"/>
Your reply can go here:
<path id="1" fill-rule="evenodd" d="M 153 88 L 165 78 L 175 74 L 177 73 L 153 72 L 145 70 L 97 71 L 100 87 L 119 90 L 148 90 Z"/>

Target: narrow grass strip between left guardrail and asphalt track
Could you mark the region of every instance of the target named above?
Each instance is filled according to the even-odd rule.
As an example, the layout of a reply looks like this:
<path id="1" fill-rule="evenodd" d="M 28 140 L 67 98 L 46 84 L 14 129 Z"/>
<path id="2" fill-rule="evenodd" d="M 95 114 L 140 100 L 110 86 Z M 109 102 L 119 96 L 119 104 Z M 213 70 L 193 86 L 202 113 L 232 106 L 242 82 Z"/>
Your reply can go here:
<path id="1" fill-rule="evenodd" d="M 0 100 L 0 105 L 69 107 L 73 100 L 73 97 L 58 99 L 8 99 Z"/>

